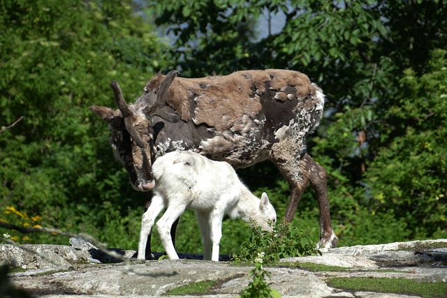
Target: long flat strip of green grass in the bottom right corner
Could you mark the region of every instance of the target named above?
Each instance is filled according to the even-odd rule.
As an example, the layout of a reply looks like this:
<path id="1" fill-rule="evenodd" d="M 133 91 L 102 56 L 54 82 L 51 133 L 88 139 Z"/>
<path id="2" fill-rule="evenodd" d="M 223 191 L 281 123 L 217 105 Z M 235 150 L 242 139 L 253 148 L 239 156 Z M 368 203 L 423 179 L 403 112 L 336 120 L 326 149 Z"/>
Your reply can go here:
<path id="1" fill-rule="evenodd" d="M 427 283 L 404 278 L 342 278 L 327 280 L 332 288 L 355 291 L 372 291 L 418 295 L 422 297 L 447 297 L 447 283 Z"/>

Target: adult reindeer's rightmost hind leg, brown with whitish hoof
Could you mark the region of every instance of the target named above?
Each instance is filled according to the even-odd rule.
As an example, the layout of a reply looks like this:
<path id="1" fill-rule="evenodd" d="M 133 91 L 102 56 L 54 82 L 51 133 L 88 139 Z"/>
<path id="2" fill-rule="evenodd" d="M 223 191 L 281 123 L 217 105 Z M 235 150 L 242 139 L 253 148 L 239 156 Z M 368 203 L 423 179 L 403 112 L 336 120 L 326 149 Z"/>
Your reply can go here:
<path id="1" fill-rule="evenodd" d="M 328 172 L 321 165 L 318 165 L 308 154 L 301 160 L 302 167 L 305 167 L 309 181 L 315 189 L 320 210 L 320 241 L 318 247 L 323 251 L 328 248 L 337 247 L 338 239 L 332 229 L 330 220 L 330 209 L 328 200 Z"/>

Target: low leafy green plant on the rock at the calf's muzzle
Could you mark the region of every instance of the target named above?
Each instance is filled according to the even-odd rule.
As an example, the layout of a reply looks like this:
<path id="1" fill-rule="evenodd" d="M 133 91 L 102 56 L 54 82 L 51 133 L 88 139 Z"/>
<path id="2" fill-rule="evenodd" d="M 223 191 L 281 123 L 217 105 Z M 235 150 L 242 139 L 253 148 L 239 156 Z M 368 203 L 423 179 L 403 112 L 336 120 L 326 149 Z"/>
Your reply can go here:
<path id="1" fill-rule="evenodd" d="M 238 251 L 233 252 L 237 262 L 247 262 L 257 253 L 263 253 L 266 264 L 278 262 L 281 258 L 302 257 L 318 253 L 309 232 L 304 232 L 291 224 L 278 225 L 278 230 L 263 231 L 261 227 L 252 228 L 252 233 Z"/>

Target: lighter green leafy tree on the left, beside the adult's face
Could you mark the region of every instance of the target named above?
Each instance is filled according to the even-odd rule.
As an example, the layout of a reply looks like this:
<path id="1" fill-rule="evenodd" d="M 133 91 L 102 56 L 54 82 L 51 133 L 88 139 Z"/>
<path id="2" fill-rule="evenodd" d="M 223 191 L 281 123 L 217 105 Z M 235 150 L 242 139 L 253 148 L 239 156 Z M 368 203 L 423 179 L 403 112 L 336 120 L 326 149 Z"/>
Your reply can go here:
<path id="1" fill-rule="evenodd" d="M 135 98 L 165 45 L 130 0 L 1 1 L 0 29 L 0 125 L 22 117 L 0 133 L 0 220 L 135 243 L 145 195 L 87 107 L 114 104 L 112 80 Z"/>

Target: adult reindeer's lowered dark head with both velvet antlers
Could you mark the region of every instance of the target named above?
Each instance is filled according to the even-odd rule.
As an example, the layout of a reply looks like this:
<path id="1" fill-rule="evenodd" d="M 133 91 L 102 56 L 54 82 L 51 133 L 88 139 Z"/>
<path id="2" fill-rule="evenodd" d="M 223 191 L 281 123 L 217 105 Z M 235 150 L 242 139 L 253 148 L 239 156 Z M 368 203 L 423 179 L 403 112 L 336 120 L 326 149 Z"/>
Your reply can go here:
<path id="1" fill-rule="evenodd" d="M 167 91 L 176 75 L 177 71 L 175 70 L 168 73 L 161 82 L 158 91 L 149 94 L 149 97 L 154 97 L 153 105 L 149 105 L 147 102 L 127 105 L 119 84 L 113 81 L 110 87 L 112 87 L 119 110 L 101 106 L 89 107 L 89 110 L 98 114 L 109 124 L 112 132 L 110 145 L 115 149 L 117 158 L 129 172 L 132 186 L 137 191 L 149 191 L 155 186 L 151 169 L 154 129 L 150 126 L 150 119 L 158 116 L 166 121 L 179 121 L 178 115 L 162 110 Z"/>

